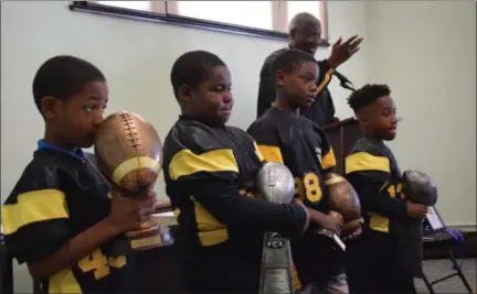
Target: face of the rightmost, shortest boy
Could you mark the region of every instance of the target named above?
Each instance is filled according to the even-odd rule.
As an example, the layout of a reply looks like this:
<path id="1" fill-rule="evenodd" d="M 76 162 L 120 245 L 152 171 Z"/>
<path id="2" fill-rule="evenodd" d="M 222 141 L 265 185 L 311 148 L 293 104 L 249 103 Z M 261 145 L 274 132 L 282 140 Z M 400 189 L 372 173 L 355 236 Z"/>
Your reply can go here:
<path id="1" fill-rule="evenodd" d="M 391 97 L 383 96 L 363 110 L 360 120 L 367 133 L 381 140 L 394 140 L 398 119 L 394 101 Z"/>

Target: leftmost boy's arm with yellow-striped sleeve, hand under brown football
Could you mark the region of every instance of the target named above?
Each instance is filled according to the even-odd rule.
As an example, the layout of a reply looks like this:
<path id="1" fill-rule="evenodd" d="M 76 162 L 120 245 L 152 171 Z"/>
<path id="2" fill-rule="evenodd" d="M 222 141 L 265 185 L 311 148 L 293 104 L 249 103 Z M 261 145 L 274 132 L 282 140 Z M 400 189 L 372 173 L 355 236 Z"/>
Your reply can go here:
<path id="1" fill-rule="evenodd" d="M 139 224 L 134 221 L 137 218 L 134 213 L 142 207 L 132 205 L 132 199 L 124 197 L 115 202 L 119 205 L 112 205 L 112 216 L 114 213 L 116 217 L 107 217 L 71 238 L 65 197 L 63 192 L 51 187 L 12 194 L 2 206 L 7 248 L 19 263 L 28 263 L 33 276 L 47 277 L 71 268 L 102 243 L 126 230 L 125 226 L 132 228 Z"/>

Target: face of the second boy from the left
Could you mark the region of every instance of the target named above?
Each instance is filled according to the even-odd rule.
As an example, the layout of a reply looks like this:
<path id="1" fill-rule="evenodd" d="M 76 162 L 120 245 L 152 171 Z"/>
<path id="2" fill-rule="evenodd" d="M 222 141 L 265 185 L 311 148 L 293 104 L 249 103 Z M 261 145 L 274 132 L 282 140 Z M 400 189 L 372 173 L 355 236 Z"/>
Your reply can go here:
<path id="1" fill-rule="evenodd" d="M 194 88 L 184 85 L 180 99 L 187 104 L 188 113 L 208 121 L 225 123 L 233 108 L 231 74 L 226 66 L 212 68 L 211 77 Z"/>

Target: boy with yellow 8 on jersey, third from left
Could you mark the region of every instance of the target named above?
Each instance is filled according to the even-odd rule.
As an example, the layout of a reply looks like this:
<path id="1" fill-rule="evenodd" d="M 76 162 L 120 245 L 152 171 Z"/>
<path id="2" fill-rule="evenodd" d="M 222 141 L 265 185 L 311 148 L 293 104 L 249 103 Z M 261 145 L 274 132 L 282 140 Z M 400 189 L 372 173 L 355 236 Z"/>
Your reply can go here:
<path id="1" fill-rule="evenodd" d="M 335 155 L 318 126 L 300 116 L 316 97 L 319 75 L 316 61 L 298 50 L 282 52 L 272 65 L 276 79 L 275 106 L 248 128 L 267 161 L 284 163 L 295 177 L 296 197 L 305 206 L 327 213 L 324 174 L 333 170 Z M 327 229 L 338 220 L 326 217 Z M 303 285 L 347 293 L 343 253 L 308 232 L 292 241 L 292 251 Z"/>

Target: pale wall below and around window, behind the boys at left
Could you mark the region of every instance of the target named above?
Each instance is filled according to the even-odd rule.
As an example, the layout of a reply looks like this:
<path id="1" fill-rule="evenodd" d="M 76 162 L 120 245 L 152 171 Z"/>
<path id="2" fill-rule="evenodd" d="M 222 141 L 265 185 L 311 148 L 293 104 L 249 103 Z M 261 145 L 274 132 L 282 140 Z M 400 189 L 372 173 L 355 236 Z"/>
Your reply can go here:
<path id="1" fill-rule="evenodd" d="M 338 34 L 365 36 L 364 2 L 330 1 L 329 28 L 333 40 Z M 179 55 L 208 50 L 227 63 L 235 96 L 230 123 L 245 129 L 255 118 L 262 63 L 271 52 L 285 45 L 286 42 L 71 12 L 66 1 L 2 1 L 1 202 L 31 160 L 44 131 L 31 84 L 35 70 L 47 58 L 72 54 L 96 64 L 109 80 L 107 111 L 136 111 L 165 138 L 179 115 L 169 81 L 170 68 Z M 322 50 L 318 55 L 325 57 L 327 52 Z M 364 53 L 365 50 L 342 68 L 357 85 L 364 83 L 367 76 Z M 331 86 L 337 113 L 346 118 L 351 113 L 344 104 L 348 92 L 338 87 Z M 162 181 L 157 193 L 165 197 Z M 15 269 L 15 291 L 31 292 L 24 266 Z"/>

